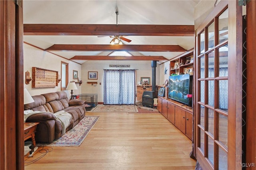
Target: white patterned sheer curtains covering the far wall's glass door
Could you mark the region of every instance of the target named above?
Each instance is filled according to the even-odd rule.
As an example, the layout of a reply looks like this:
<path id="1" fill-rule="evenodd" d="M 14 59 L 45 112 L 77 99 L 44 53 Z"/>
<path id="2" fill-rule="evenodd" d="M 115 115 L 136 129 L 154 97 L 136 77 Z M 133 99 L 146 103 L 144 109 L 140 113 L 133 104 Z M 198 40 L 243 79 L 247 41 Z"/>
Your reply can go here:
<path id="1" fill-rule="evenodd" d="M 135 70 L 104 70 L 104 105 L 135 103 Z"/>

